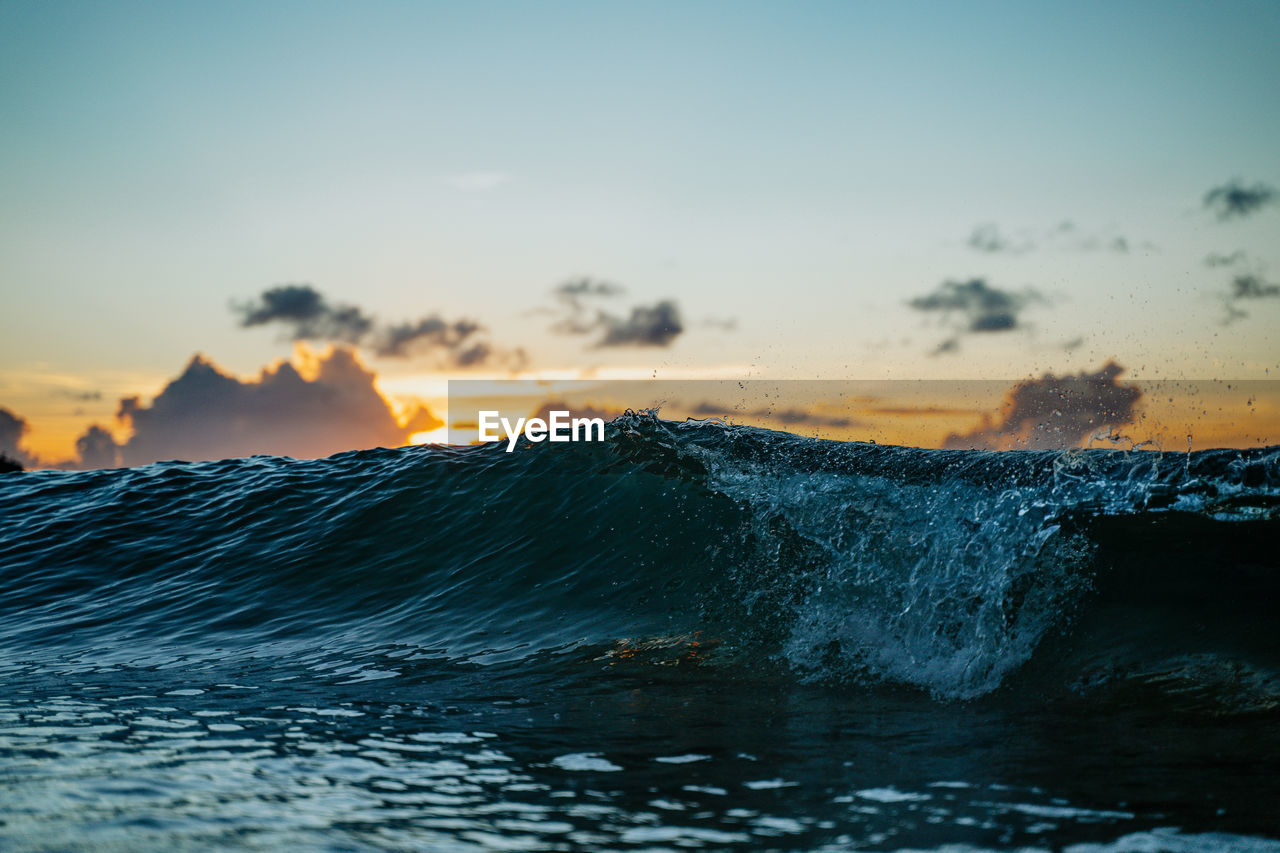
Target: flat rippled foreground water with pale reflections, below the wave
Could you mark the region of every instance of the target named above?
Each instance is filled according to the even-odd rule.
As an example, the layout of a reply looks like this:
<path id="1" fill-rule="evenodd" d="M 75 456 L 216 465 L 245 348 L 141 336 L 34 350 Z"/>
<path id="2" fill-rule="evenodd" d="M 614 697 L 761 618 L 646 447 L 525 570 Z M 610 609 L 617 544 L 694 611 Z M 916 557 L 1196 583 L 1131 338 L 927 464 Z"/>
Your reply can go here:
<path id="1" fill-rule="evenodd" d="M 1135 776 L 1140 761 L 1105 756 L 1102 731 L 1073 754 L 1084 744 L 1055 743 L 1048 712 L 667 672 L 611 671 L 534 701 L 511 671 L 376 690 L 312 670 L 209 675 L 10 670 L 5 849 L 1280 850 L 1215 834 L 1263 831 L 1265 788 L 1219 768 L 1193 789 L 1184 765 L 1204 754 L 1187 747 Z M 1126 781 L 1108 785 L 1098 761 Z"/>

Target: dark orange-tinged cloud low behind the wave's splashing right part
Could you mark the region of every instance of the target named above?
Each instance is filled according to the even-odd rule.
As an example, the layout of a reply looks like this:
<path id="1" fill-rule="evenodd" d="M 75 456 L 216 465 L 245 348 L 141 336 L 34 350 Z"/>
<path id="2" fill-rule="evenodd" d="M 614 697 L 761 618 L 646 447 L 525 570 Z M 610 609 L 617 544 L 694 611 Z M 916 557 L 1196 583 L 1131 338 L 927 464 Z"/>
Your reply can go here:
<path id="1" fill-rule="evenodd" d="M 1117 382 L 1124 368 L 1108 361 L 1096 373 L 1082 371 L 1020 382 L 1010 388 L 993 423 L 989 415 L 973 432 L 952 433 L 942 446 L 957 450 L 1062 450 L 1091 435 L 1129 424 L 1142 398 L 1135 386 Z"/>

